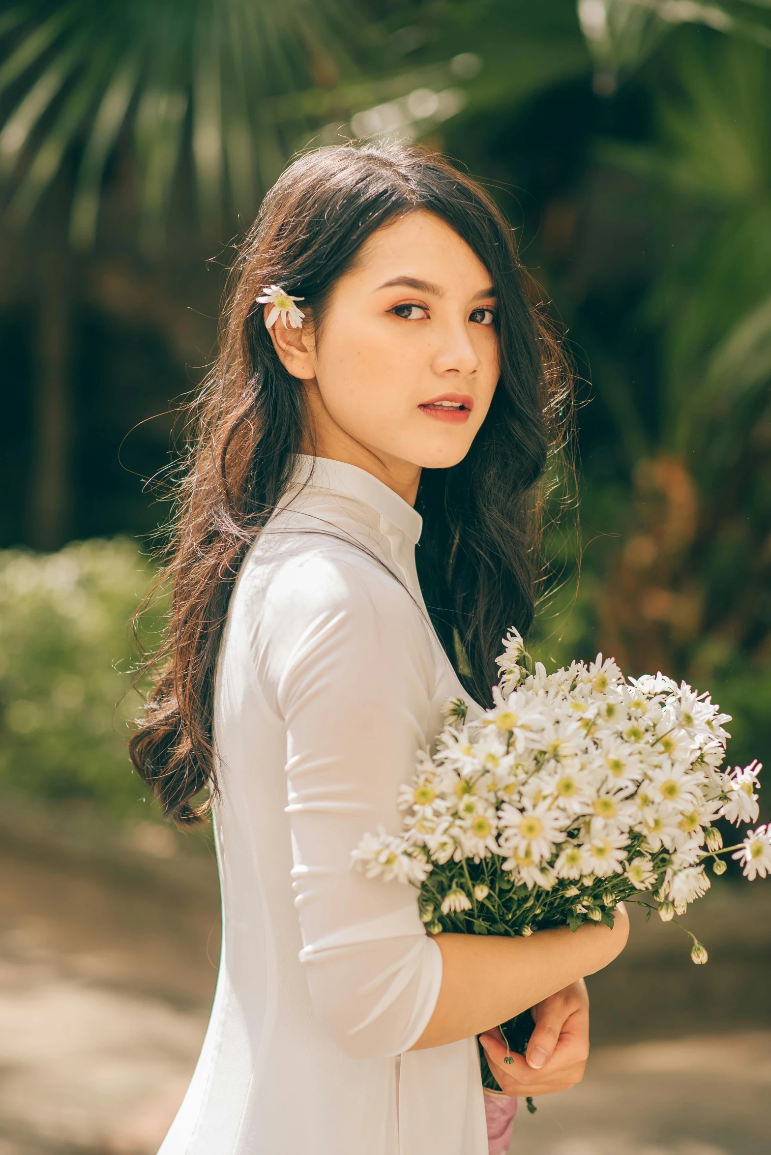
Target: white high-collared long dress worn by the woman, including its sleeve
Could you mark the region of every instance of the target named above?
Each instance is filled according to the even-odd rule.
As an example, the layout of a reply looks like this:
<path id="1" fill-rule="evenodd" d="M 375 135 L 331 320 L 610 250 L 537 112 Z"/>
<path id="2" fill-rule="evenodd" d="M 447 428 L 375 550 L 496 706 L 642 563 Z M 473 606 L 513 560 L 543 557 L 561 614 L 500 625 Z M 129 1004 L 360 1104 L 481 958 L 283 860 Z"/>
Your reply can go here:
<path id="1" fill-rule="evenodd" d="M 464 693 L 418 586 L 421 517 L 354 465 L 300 459 L 298 477 L 310 470 L 229 612 L 223 955 L 160 1153 L 487 1155 L 476 1041 L 410 1050 L 442 979 L 417 891 L 350 867 L 364 833 L 399 829 L 398 788 Z"/>

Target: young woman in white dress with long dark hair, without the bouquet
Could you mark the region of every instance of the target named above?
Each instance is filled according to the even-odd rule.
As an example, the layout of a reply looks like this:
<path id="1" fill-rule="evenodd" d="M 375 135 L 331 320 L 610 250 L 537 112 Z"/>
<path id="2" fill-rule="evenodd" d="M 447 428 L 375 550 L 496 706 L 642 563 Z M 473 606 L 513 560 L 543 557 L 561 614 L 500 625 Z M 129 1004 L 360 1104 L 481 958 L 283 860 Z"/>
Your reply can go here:
<path id="1" fill-rule="evenodd" d="M 166 666 L 132 742 L 170 818 L 200 820 L 208 788 L 223 892 L 163 1155 L 486 1155 L 479 1034 L 509 1095 L 581 1079 L 582 979 L 623 914 L 431 938 L 417 891 L 350 869 L 365 832 L 398 829 L 443 703 L 487 702 L 506 628 L 530 625 L 563 383 L 510 229 L 443 161 L 321 149 L 267 196 L 195 407 Z M 504 1066 L 495 1027 L 526 1007 Z"/>

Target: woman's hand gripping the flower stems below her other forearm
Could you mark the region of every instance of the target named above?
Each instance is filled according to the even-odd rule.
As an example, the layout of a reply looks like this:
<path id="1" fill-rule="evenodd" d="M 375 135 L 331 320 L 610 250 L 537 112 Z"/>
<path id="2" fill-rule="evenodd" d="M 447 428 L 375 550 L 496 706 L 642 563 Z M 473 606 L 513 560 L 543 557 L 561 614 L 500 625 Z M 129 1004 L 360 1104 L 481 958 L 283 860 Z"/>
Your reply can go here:
<path id="1" fill-rule="evenodd" d="M 536 1028 L 526 1056 L 511 1055 L 504 1064 L 501 1031 L 485 1031 L 479 1041 L 489 1068 L 507 1095 L 551 1095 L 569 1090 L 584 1076 L 589 1058 L 589 996 L 583 978 L 532 1008 Z"/>

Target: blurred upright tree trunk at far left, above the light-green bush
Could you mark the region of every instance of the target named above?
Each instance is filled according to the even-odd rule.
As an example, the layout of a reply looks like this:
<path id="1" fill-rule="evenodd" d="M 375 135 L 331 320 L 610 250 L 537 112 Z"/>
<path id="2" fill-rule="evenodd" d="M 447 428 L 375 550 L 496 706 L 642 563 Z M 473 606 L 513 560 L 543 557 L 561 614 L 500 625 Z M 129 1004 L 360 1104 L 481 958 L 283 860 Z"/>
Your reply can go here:
<path id="1" fill-rule="evenodd" d="M 46 246 L 40 254 L 28 535 L 38 550 L 59 549 L 72 531 L 70 260 L 63 246 Z"/>

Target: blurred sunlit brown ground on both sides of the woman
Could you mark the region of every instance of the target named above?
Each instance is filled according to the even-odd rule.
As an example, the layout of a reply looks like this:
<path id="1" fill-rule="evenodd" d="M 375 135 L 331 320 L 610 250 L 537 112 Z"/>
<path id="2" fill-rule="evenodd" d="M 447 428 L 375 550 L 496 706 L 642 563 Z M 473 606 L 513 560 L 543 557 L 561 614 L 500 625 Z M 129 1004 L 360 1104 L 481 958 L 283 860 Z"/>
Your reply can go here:
<path id="1" fill-rule="evenodd" d="M 218 952 L 211 859 L 159 849 L 0 855 L 0 1155 L 156 1152 Z M 592 981 L 586 1079 L 523 1112 L 512 1152 L 765 1155 L 771 886 L 725 888 L 689 923 L 706 967 L 672 926 L 635 919 L 623 962 Z"/>

